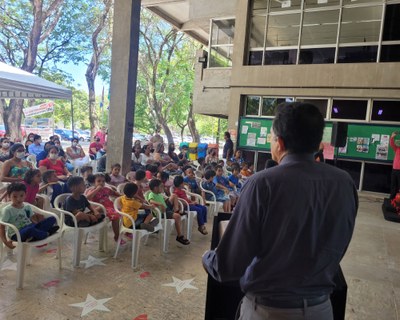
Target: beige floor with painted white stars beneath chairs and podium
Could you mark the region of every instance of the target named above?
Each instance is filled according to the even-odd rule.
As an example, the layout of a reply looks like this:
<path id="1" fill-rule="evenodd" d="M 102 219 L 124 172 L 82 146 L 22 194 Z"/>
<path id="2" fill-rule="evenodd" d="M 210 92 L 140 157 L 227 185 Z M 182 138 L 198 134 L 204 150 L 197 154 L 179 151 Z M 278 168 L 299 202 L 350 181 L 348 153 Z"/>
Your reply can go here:
<path id="1" fill-rule="evenodd" d="M 399 319 L 400 224 L 383 220 L 380 201 L 360 197 L 353 241 L 342 262 L 349 286 L 346 319 Z M 130 268 L 129 246 L 113 259 L 114 243 L 108 253 L 100 253 L 97 235 L 83 245 L 82 260 L 90 254 L 105 258 L 105 265 L 85 269 L 82 264 L 73 269 L 71 239 L 67 234 L 61 271 L 52 250 L 55 245 L 35 249 L 23 290 L 15 289 L 14 270 L 0 271 L 0 319 L 79 319 L 86 309 L 71 304 L 85 302 L 88 294 L 106 299 L 98 305 L 88 303 L 88 310 L 91 306 L 109 311 L 95 309 L 83 316 L 86 319 L 204 319 L 207 277 L 200 257 L 209 248 L 211 235 L 194 231 L 190 246 L 178 244 L 171 236 L 169 253 L 162 255 L 158 238 L 152 237 L 141 248 L 136 271 Z M 178 293 L 174 287 L 163 286 L 173 283 L 172 277 L 188 280 L 187 286 L 196 289 Z"/>

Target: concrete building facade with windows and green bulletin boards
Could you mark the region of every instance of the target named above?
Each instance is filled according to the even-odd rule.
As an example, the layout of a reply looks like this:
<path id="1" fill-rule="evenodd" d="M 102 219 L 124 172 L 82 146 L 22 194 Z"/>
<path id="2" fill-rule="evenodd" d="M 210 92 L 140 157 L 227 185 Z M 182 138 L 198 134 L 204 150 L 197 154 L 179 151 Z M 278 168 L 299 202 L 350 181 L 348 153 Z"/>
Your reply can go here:
<path id="1" fill-rule="evenodd" d="M 400 1 L 238 0 L 233 15 L 210 19 L 209 35 L 195 112 L 227 116 L 258 170 L 270 157 L 275 106 L 311 102 L 327 122 L 328 161 L 337 157 L 360 190 L 388 192 L 387 136 L 400 130 Z M 332 122 L 349 124 L 343 149 L 328 150 Z"/>

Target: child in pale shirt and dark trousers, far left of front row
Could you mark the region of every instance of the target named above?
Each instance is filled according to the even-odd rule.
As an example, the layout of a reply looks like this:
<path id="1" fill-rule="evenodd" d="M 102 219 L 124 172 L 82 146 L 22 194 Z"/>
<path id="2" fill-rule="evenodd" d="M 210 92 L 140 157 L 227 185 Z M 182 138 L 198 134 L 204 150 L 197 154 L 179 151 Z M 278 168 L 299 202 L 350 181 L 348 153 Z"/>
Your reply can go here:
<path id="1" fill-rule="evenodd" d="M 34 213 L 32 208 L 24 204 L 26 187 L 23 183 L 13 182 L 7 187 L 7 193 L 11 204 L 3 209 L 2 221 L 10 223 L 18 228 L 21 241 L 38 241 L 47 238 L 57 232 L 59 226 L 55 225 L 54 217 L 44 218 L 41 214 Z M 17 235 L 12 228 L 6 230 L 0 225 L 0 237 L 3 243 L 10 249 L 14 249 L 13 241 L 17 241 Z"/>

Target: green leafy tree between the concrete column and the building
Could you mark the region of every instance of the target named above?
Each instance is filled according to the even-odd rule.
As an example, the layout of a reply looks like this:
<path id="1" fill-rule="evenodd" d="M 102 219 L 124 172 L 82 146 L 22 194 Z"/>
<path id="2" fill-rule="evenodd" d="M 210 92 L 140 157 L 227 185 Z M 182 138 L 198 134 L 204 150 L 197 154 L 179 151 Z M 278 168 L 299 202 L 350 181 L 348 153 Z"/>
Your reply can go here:
<path id="1" fill-rule="evenodd" d="M 155 122 L 152 127 L 160 126 L 172 143 L 171 124 L 181 129 L 188 124 L 194 78 L 191 40 L 146 10 L 142 11 L 140 35 L 137 102 L 147 105 Z"/>

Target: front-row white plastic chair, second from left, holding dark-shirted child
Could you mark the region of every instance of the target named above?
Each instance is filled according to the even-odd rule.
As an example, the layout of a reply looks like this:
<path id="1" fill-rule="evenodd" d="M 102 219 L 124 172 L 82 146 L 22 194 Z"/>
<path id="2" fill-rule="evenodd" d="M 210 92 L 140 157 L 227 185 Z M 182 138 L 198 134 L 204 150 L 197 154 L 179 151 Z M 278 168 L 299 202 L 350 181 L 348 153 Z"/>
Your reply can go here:
<path id="1" fill-rule="evenodd" d="M 83 237 L 85 236 L 86 233 L 88 232 L 94 232 L 94 231 L 99 231 L 99 251 L 107 251 L 108 247 L 108 238 L 107 238 L 107 223 L 108 223 L 108 218 L 105 217 L 102 222 L 99 222 L 93 226 L 90 227 L 84 227 L 84 228 L 79 228 L 78 227 L 78 222 L 76 221 L 75 216 L 68 211 L 63 210 L 62 206 L 64 205 L 64 202 L 68 196 L 70 196 L 70 193 L 63 193 L 57 196 L 57 198 L 54 200 L 54 207 L 55 209 L 63 216 L 63 230 L 68 231 L 68 230 L 73 230 L 74 231 L 74 248 L 73 248 L 73 259 L 72 259 L 72 265 L 74 267 L 79 267 L 80 265 L 80 258 L 81 258 L 81 246 L 82 246 L 82 240 Z M 106 209 L 104 208 L 103 205 L 100 203 L 95 203 L 89 201 L 91 205 L 94 205 L 96 207 L 100 207 L 101 210 L 103 211 L 104 214 L 106 214 Z M 65 216 L 70 216 L 74 222 L 74 226 L 68 226 L 65 224 Z"/>

